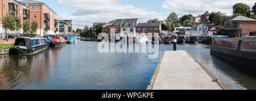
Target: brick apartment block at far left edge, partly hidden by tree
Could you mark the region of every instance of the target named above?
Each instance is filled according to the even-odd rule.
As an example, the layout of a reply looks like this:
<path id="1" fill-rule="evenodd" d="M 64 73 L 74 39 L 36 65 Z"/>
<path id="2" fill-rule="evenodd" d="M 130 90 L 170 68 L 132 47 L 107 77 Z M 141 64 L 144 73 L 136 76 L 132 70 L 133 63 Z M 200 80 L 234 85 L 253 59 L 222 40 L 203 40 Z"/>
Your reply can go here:
<path id="1" fill-rule="evenodd" d="M 10 36 L 13 32 L 10 30 L 5 30 L 2 25 L 2 19 L 4 16 L 13 14 L 17 15 L 20 17 L 21 22 L 23 20 L 30 20 L 29 16 L 30 9 L 26 6 L 23 5 L 22 3 L 15 1 L 15 0 L 1 0 L 0 1 L 0 34 L 1 38 L 7 38 L 7 36 Z M 23 33 L 23 29 L 17 30 L 19 33 Z M 6 34 L 8 33 L 8 34 Z"/>

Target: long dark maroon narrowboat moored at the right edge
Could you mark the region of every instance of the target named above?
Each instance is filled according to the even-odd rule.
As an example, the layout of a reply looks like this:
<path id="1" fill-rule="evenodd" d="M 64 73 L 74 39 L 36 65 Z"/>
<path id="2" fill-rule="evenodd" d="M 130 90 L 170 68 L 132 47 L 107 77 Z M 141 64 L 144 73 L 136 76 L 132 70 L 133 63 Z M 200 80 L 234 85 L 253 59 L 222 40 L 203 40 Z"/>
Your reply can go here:
<path id="1" fill-rule="evenodd" d="M 256 37 L 214 38 L 210 53 L 256 69 Z"/>

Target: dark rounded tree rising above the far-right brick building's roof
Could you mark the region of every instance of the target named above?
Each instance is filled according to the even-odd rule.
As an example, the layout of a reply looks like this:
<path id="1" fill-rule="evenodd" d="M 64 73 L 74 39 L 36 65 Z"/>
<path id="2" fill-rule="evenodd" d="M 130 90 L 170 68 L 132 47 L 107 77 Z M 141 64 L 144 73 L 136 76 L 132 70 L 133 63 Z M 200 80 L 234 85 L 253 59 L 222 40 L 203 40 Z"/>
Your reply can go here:
<path id="1" fill-rule="evenodd" d="M 243 16 L 250 16 L 250 7 L 243 3 L 237 3 L 233 6 L 233 14 L 242 14 Z"/>

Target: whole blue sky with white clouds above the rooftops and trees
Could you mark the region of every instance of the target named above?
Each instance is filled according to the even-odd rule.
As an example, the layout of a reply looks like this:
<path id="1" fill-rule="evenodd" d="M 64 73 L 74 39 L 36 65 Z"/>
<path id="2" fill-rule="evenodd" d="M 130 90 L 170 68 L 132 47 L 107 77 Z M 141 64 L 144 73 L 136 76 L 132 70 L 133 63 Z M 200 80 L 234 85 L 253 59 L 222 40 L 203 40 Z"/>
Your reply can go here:
<path id="1" fill-rule="evenodd" d="M 21 0 L 18 0 L 21 1 Z M 166 20 L 171 12 L 179 17 L 199 16 L 205 11 L 221 11 L 232 15 L 233 5 L 245 3 L 253 7 L 256 0 L 35 0 L 44 2 L 57 13 L 58 19 L 73 20 L 73 30 L 93 23 L 108 23 L 114 19 L 138 18 L 140 23 Z"/>

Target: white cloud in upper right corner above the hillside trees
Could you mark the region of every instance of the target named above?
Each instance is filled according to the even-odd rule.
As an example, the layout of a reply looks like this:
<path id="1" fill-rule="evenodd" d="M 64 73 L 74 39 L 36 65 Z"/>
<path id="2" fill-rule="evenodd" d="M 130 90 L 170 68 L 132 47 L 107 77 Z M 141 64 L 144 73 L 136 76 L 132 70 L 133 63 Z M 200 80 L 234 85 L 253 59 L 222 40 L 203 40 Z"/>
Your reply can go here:
<path id="1" fill-rule="evenodd" d="M 179 17 L 185 14 L 198 16 L 204 14 L 205 11 L 221 11 L 226 12 L 227 15 L 232 15 L 233 5 L 240 2 L 253 7 L 256 0 L 165 0 L 162 7 L 169 12 L 176 12 Z"/>

